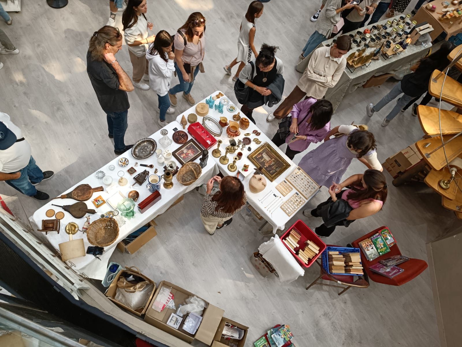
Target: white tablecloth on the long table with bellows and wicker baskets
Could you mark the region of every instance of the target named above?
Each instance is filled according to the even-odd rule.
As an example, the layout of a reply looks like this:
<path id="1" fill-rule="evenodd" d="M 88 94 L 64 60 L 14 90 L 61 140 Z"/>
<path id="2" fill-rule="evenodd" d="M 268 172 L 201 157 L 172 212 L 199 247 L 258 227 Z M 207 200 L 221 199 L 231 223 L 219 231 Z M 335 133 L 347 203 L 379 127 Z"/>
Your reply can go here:
<path id="1" fill-rule="evenodd" d="M 182 129 L 182 126 L 179 123 L 176 122 L 171 122 L 170 124 L 167 124 L 163 129 L 167 129 L 169 131 L 168 136 L 171 138 L 173 134 L 173 128 L 178 128 Z M 160 135 L 160 130 L 149 136 L 156 140 L 157 142 L 157 148 L 158 149 L 163 149 L 162 146 L 159 144 L 159 138 L 162 137 Z M 189 136 L 191 137 L 191 136 Z M 169 150 L 173 151 L 174 149 L 177 149 L 181 145 L 172 143 Z M 119 158 L 128 158 L 129 163 L 127 167 L 120 167 L 118 165 Z M 200 157 L 199 157 L 200 158 Z M 195 161 L 199 162 L 199 158 L 197 158 Z M 172 157 L 171 160 L 175 160 L 175 158 Z M 130 167 L 134 167 L 135 162 L 138 162 L 139 164 L 153 164 L 154 168 L 150 169 L 149 167 L 142 167 L 138 166 L 135 167 L 137 172 L 133 175 L 130 176 L 128 174 L 127 169 Z M 116 168 L 114 171 L 109 170 L 109 165 L 114 165 Z M 177 165 L 179 165 L 178 162 L 176 162 Z M 143 201 L 145 198 L 147 198 L 151 193 L 148 191 L 146 188 L 146 182 L 142 185 L 139 186 L 137 183 L 134 182 L 133 177 L 136 174 L 139 174 L 142 172 L 144 169 L 147 169 L 149 171 L 149 174 L 154 173 L 154 169 L 158 168 L 158 175 L 162 175 L 164 173 L 163 166 L 159 165 L 157 163 L 157 157 L 156 155 L 152 155 L 149 158 L 143 159 L 143 160 L 138 160 L 135 159 L 132 154 L 131 150 L 128 150 L 124 154 L 118 156 L 117 158 L 113 159 L 112 161 L 109 161 L 106 165 L 103 167 L 99 168 L 98 170 L 102 170 L 106 173 L 106 175 L 109 175 L 113 179 L 113 183 L 116 184 L 117 190 L 122 192 L 125 196 L 128 195 L 128 192 L 131 190 L 136 190 L 140 193 L 140 198 L 138 198 L 138 201 L 136 202 L 137 204 Z M 97 171 L 98 171 L 97 170 Z M 119 177 L 117 173 L 119 171 L 124 172 L 124 176 L 128 180 L 128 184 L 126 186 L 119 186 L 117 184 L 117 180 L 119 180 Z M 96 173 L 96 171 L 95 171 Z M 107 185 L 103 184 L 103 180 L 98 180 L 95 176 L 95 173 L 91 174 L 84 180 L 80 181 L 79 183 L 75 184 L 74 186 L 70 187 L 66 192 L 63 192 L 63 194 L 72 191 L 76 186 L 80 184 L 89 184 L 92 188 L 98 187 L 98 186 L 103 186 L 104 189 L 106 189 Z M 116 242 L 112 243 L 110 246 L 104 247 L 104 253 L 103 256 L 101 257 L 102 260 L 106 261 L 99 261 L 97 260 L 93 255 L 91 254 L 86 254 L 84 257 L 79 257 L 79 258 L 74 258 L 71 259 L 72 263 L 75 265 L 73 267 L 74 270 L 79 270 L 81 273 L 85 273 L 88 277 L 91 278 L 96 278 L 96 279 L 103 279 L 104 273 L 106 272 L 106 266 L 107 266 L 107 260 L 109 260 L 110 255 L 114 251 L 116 245 L 118 242 L 122 241 L 127 235 L 132 233 L 133 231 L 139 229 L 141 226 L 145 225 L 147 222 L 151 221 L 153 218 L 157 217 L 158 215 L 164 213 L 170 206 L 173 204 L 178 198 L 181 198 L 185 193 L 193 190 L 196 186 L 200 186 L 203 183 L 206 183 L 207 180 L 209 180 L 213 175 L 218 173 L 218 168 L 215 165 L 215 162 L 213 160 L 208 160 L 207 161 L 207 166 L 202 169 L 202 174 L 201 177 L 196 180 L 193 184 L 190 186 L 183 186 L 176 180 L 176 176 L 173 177 L 173 187 L 171 189 L 165 189 L 163 186 L 161 186 L 160 193 L 162 195 L 162 198 L 160 201 L 158 201 L 156 204 L 151 206 L 146 212 L 140 213 L 138 211 L 138 208 L 135 206 L 135 215 L 133 218 L 130 220 L 125 220 L 125 224 L 122 227 L 119 227 L 119 237 L 117 238 Z M 162 181 L 163 182 L 163 181 Z M 134 185 L 132 188 L 130 188 L 131 185 Z M 116 191 L 117 191 L 116 190 Z M 104 200 L 107 200 L 107 198 L 110 198 L 113 193 L 108 194 L 106 191 L 103 192 L 95 192 L 93 193 L 93 196 L 91 199 L 85 201 L 87 204 L 88 208 L 90 209 L 95 209 L 97 211 L 96 214 L 87 214 L 86 216 L 90 216 L 90 222 L 93 222 L 97 220 L 101 214 L 107 212 L 107 211 L 112 211 L 113 208 L 109 205 L 109 203 L 105 203 L 99 208 L 95 208 L 95 206 L 92 204 L 91 200 L 96 198 L 98 195 L 101 195 Z M 62 195 L 62 194 L 60 194 Z M 49 219 L 48 217 L 45 216 L 45 212 L 48 209 L 53 209 L 56 212 L 58 211 L 63 211 L 60 207 L 52 206 L 51 204 L 57 204 L 57 205 L 70 205 L 77 202 L 76 200 L 73 199 L 54 199 L 50 200 L 46 205 L 38 209 L 37 211 L 34 212 L 34 215 L 30 218 L 31 222 L 34 222 L 39 228 L 42 226 L 42 219 Z M 199 212 L 199 211 L 198 211 Z M 66 242 L 69 241 L 69 235 L 66 234 L 65 227 L 67 223 L 69 222 L 76 222 L 79 225 L 79 228 L 81 229 L 84 222 L 85 222 L 85 217 L 76 219 L 73 218 L 68 212 L 64 212 L 65 217 L 61 219 L 61 231 L 58 234 L 56 231 L 48 233 L 46 237 L 48 238 L 49 242 L 55 247 L 57 250 L 59 250 L 59 244 L 61 242 Z M 121 215 L 119 214 L 119 217 Z M 84 243 L 85 243 L 85 250 L 91 246 L 91 244 L 88 242 L 87 237 L 85 234 L 82 234 L 81 232 L 78 232 L 76 235 L 73 235 L 74 240 L 78 238 L 83 238 Z M 95 262 L 96 260 L 96 262 Z M 70 265 L 70 264 L 68 264 Z"/>

